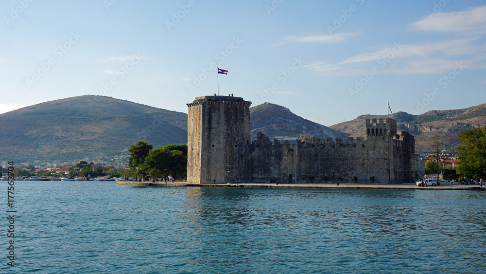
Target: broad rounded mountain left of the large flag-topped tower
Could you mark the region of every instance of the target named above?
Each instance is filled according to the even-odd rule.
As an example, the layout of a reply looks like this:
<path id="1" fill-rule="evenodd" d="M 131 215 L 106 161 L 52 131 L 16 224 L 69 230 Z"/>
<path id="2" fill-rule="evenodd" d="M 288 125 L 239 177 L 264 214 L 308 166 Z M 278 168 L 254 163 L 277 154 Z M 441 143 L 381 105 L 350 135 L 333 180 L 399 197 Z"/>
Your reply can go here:
<path id="1" fill-rule="evenodd" d="M 187 114 L 106 96 L 84 95 L 0 114 L 0 159 L 97 159 L 145 140 L 187 143 Z"/>

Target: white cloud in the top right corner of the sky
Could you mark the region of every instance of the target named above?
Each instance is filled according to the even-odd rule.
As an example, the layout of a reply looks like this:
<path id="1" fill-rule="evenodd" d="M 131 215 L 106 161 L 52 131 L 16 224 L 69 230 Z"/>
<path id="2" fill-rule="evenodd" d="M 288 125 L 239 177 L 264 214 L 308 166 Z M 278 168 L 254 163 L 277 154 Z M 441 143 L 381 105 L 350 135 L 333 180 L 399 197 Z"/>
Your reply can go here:
<path id="1" fill-rule="evenodd" d="M 465 32 L 486 29 L 486 6 L 466 11 L 436 13 L 410 24 L 415 31 Z"/>

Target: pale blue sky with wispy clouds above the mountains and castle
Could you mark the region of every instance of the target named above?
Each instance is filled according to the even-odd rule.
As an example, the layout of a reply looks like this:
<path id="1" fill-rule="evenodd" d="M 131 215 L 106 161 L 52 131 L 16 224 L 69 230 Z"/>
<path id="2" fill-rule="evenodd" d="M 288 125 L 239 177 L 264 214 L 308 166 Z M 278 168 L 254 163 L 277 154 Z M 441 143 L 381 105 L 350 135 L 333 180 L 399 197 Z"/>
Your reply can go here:
<path id="1" fill-rule="evenodd" d="M 486 0 L 3 0 L 0 15 L 0 113 L 86 94 L 187 113 L 218 82 L 325 126 L 486 102 Z"/>

